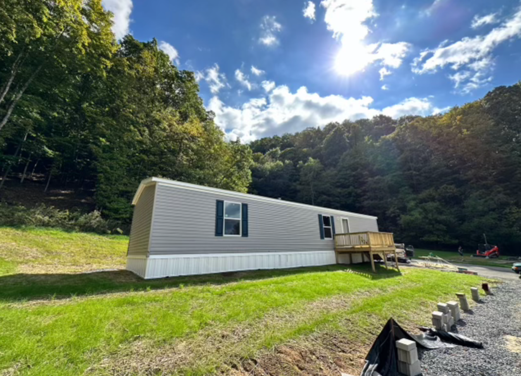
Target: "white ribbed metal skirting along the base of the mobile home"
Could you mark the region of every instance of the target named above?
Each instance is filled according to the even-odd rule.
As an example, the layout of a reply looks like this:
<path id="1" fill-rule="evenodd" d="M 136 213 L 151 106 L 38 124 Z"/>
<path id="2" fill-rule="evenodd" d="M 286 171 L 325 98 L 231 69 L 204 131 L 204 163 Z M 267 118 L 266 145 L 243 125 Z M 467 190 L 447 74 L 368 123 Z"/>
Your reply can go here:
<path id="1" fill-rule="evenodd" d="M 143 263 L 144 262 L 144 266 Z M 333 250 L 167 255 L 127 259 L 127 269 L 145 279 L 222 273 L 239 270 L 283 269 L 336 264 Z"/>

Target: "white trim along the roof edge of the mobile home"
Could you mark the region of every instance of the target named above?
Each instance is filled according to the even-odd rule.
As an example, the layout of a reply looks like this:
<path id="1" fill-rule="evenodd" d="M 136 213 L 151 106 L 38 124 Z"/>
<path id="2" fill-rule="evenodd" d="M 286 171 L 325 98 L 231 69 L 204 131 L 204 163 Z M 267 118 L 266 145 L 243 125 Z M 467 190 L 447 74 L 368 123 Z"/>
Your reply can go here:
<path id="1" fill-rule="evenodd" d="M 160 185 L 175 186 L 175 187 L 178 187 L 180 189 L 187 189 L 187 190 L 192 190 L 192 191 L 217 193 L 217 194 L 220 194 L 222 196 L 235 197 L 236 199 L 237 198 L 244 198 L 244 199 L 248 199 L 248 200 L 256 200 L 256 201 L 261 201 L 261 202 L 276 203 L 276 204 L 279 204 L 279 205 L 305 207 L 305 208 L 314 209 L 314 210 L 328 210 L 328 211 L 330 211 L 332 213 L 332 215 L 334 215 L 334 214 L 344 215 L 344 216 L 345 215 L 349 215 L 351 217 L 359 217 L 359 218 L 367 218 L 367 219 L 377 219 L 378 218 L 378 217 L 375 217 L 375 216 L 368 216 L 368 215 L 365 215 L 365 214 L 358 214 L 358 213 L 353 213 L 353 212 L 350 212 L 350 211 L 343 211 L 343 210 L 337 210 L 337 209 L 324 208 L 324 207 L 320 207 L 320 206 L 313 206 L 313 205 L 307 205 L 307 204 L 301 204 L 301 203 L 294 203 L 294 202 L 291 202 L 291 201 L 279 200 L 277 198 L 269 198 L 269 197 L 251 195 L 251 194 L 241 193 L 241 192 L 226 191 L 226 190 L 221 190 L 221 189 L 218 189 L 218 188 L 212 188 L 212 187 L 207 187 L 207 186 L 203 186 L 203 185 L 183 183 L 183 182 L 179 182 L 179 181 L 175 181 L 175 180 L 161 179 L 161 178 L 147 178 L 147 179 L 144 179 L 141 182 L 141 184 L 139 185 L 138 190 L 135 193 L 134 198 L 132 199 L 132 205 L 135 205 L 138 202 L 139 197 L 141 196 L 141 193 L 143 192 L 143 189 L 144 189 L 145 186 L 148 186 L 148 185 L 151 185 L 151 184 L 156 184 L 156 183 L 158 183 Z"/>

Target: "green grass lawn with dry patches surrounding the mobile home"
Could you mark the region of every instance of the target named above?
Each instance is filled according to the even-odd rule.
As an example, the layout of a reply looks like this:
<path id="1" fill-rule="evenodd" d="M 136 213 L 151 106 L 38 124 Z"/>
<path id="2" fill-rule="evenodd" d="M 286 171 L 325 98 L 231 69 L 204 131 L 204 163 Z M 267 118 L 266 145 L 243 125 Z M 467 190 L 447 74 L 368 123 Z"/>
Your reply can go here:
<path id="1" fill-rule="evenodd" d="M 126 242 L 0 229 L 0 375 L 354 374 L 387 319 L 428 324 L 437 302 L 481 282 L 366 265 L 153 281 L 78 273 L 122 267 Z"/>

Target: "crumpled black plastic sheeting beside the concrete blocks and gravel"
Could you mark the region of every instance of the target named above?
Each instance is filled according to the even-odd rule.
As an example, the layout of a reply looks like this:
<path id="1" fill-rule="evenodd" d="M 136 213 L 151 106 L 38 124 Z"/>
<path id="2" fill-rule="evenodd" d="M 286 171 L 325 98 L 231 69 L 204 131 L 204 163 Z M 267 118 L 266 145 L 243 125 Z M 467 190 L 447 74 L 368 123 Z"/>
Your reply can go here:
<path id="1" fill-rule="evenodd" d="M 420 329 L 426 330 L 427 333 L 419 335 L 409 334 L 396 321 L 392 318 L 389 319 L 373 343 L 373 346 L 371 346 L 365 358 L 365 367 L 360 376 L 374 376 L 374 372 L 378 372 L 375 374 L 380 374 L 381 376 L 399 376 L 396 341 L 402 339 L 415 341 L 418 347 L 425 349 L 454 347 L 451 343 L 482 348 L 481 343 L 460 334 L 431 330 L 430 328 Z"/>

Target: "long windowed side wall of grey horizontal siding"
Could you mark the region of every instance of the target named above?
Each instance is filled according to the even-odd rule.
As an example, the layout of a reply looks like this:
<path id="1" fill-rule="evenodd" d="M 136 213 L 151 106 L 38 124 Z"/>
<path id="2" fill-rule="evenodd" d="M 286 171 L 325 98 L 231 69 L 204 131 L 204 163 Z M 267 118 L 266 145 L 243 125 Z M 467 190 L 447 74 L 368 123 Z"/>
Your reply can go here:
<path id="1" fill-rule="evenodd" d="M 249 237 L 215 236 L 218 199 L 248 204 Z M 320 239 L 318 214 L 333 215 L 337 232 L 342 231 L 342 217 L 349 218 L 351 232 L 378 231 L 376 218 L 158 183 L 150 254 L 333 250 L 333 240 Z"/>

